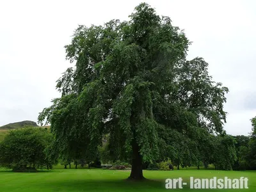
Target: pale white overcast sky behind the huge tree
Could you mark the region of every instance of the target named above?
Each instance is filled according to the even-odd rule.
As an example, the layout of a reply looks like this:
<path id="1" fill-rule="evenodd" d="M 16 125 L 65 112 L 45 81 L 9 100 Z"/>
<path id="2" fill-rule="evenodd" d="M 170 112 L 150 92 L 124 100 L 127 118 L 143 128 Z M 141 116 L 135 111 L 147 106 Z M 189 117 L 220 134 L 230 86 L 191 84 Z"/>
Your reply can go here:
<path id="1" fill-rule="evenodd" d="M 78 24 L 128 20 L 147 2 L 173 25 L 185 29 L 188 58 L 202 56 L 214 81 L 230 92 L 225 111 L 228 134 L 252 130 L 256 116 L 256 1 L 0 1 L 0 126 L 37 121 L 59 97 L 56 80 L 67 67 L 64 45 Z"/>

